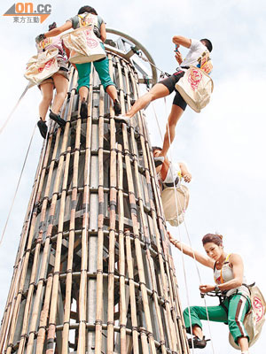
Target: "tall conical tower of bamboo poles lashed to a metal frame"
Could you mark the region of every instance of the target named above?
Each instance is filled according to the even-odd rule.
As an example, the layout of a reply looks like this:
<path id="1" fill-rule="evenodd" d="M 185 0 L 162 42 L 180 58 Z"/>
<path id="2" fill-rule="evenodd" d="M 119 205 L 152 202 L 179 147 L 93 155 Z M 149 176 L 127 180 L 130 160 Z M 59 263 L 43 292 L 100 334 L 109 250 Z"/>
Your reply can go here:
<path id="1" fill-rule="evenodd" d="M 122 112 L 149 77 L 115 30 L 106 50 Z M 131 47 L 135 47 L 135 49 Z M 137 62 L 138 60 L 138 62 Z M 143 113 L 129 126 L 92 70 L 80 117 L 71 69 L 62 117 L 43 143 L 0 333 L 1 353 L 189 353 Z"/>

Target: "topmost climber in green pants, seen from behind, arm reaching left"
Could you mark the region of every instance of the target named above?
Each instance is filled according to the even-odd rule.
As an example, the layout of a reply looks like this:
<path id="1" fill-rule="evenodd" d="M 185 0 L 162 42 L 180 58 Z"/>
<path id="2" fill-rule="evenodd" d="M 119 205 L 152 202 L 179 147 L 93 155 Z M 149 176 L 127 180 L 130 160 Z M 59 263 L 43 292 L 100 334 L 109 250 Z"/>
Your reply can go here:
<path id="1" fill-rule="evenodd" d="M 60 35 L 70 28 L 86 27 L 90 24 L 94 25 L 94 33 L 97 35 L 100 45 L 103 49 L 104 42 L 106 41 L 106 24 L 104 20 L 98 16 L 96 10 L 90 6 L 82 6 L 76 16 L 71 19 L 67 19 L 66 23 L 58 28 L 55 28 L 43 35 L 38 35 L 36 37 L 36 42 L 40 42 L 43 38 L 52 37 L 54 35 Z M 116 116 L 121 114 L 121 104 L 118 101 L 117 90 L 115 89 L 114 83 L 111 80 L 109 73 L 109 61 L 108 58 L 103 58 L 93 62 L 96 71 L 98 72 L 99 79 L 104 86 L 107 94 L 113 99 L 113 109 Z M 90 88 L 90 63 L 76 64 L 76 69 L 79 74 L 77 91 L 79 92 L 80 98 L 82 100 L 81 106 L 81 117 L 87 118 L 88 116 L 88 106 L 87 97 Z M 122 119 L 121 119 L 122 120 Z"/>

